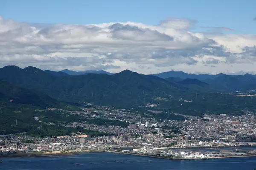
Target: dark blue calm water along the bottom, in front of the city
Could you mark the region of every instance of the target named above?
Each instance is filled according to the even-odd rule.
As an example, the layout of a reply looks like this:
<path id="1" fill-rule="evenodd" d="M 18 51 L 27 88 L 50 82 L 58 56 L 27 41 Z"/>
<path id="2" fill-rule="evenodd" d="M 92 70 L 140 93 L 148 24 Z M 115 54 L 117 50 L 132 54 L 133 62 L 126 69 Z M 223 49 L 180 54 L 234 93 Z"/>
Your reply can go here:
<path id="1" fill-rule="evenodd" d="M 3 164 L 0 164 L 0 170 L 254 170 L 256 168 L 256 157 L 173 161 L 116 153 L 85 153 L 68 157 L 1 160 Z"/>

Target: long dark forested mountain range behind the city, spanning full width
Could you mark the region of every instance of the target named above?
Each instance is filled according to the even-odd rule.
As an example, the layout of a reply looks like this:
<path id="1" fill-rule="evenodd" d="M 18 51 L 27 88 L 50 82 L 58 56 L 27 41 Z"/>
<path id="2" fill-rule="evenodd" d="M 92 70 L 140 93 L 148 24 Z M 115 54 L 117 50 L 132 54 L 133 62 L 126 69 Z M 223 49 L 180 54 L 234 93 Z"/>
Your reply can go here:
<path id="1" fill-rule="evenodd" d="M 139 106 L 147 103 L 157 103 L 157 109 L 189 115 L 243 114 L 242 110 L 256 110 L 256 97 L 227 94 L 232 89 L 255 88 L 256 78 L 252 75 L 220 74 L 204 81 L 184 78 L 163 79 L 129 70 L 112 75 L 87 73 L 70 76 L 63 72 L 42 71 L 31 66 L 24 69 L 17 66 L 0 68 L 0 79 L 15 86 L 41 91 L 51 98 L 66 102 L 90 102 L 134 109 L 142 109 Z M 175 116 L 171 117 L 176 119 Z"/>

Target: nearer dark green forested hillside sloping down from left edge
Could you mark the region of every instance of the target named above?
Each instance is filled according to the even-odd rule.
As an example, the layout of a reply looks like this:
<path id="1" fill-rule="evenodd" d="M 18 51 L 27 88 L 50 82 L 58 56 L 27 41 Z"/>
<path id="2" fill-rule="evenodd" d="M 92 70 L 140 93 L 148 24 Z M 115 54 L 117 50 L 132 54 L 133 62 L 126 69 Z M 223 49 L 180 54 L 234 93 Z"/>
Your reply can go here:
<path id="1" fill-rule="evenodd" d="M 52 99 L 44 93 L 16 87 L 0 80 L 0 135 L 26 132 L 38 127 L 35 116 L 52 114 L 47 108 L 79 111 L 75 105 Z"/>

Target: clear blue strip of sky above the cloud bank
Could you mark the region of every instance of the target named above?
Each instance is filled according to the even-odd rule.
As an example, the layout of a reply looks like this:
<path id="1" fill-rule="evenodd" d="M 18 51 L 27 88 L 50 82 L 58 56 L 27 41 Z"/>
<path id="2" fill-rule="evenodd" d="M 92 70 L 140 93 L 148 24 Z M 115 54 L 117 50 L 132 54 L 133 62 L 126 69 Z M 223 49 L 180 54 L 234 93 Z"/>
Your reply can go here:
<path id="1" fill-rule="evenodd" d="M 256 0 L 1 0 L 0 15 L 29 23 L 98 24 L 137 22 L 157 25 L 166 18 L 197 20 L 256 34 Z"/>

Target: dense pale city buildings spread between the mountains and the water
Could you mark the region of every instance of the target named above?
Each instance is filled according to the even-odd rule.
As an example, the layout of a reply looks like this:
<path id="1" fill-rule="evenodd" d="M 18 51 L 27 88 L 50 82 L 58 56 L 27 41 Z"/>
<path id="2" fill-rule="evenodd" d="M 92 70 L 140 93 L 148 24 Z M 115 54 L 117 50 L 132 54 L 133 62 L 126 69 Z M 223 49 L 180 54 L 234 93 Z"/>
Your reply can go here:
<path id="1" fill-rule="evenodd" d="M 148 112 L 160 114 L 154 104 Z M 152 110 L 151 110 L 152 109 Z M 81 111 L 58 111 L 67 116 L 79 116 L 78 122 L 42 122 L 40 114 L 34 119 L 39 127 L 55 125 L 61 128 L 87 129 L 88 133 L 73 131 L 65 136 L 35 136 L 18 133 L 0 136 L 0 156 L 15 153 L 83 153 L 115 152 L 157 156 L 168 159 L 209 159 L 230 156 L 256 156 L 256 116 L 204 114 L 185 116 L 185 120 L 157 119 L 125 109 L 101 107 L 87 103 Z M 178 113 L 169 113 L 179 116 Z M 168 114 L 167 114 L 168 115 Z M 184 116 L 184 115 L 183 115 Z M 86 131 L 85 131 L 86 132 Z M 37 135 L 40 135 L 37 132 Z M 32 137 L 34 136 L 34 137 Z"/>

